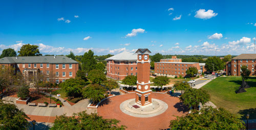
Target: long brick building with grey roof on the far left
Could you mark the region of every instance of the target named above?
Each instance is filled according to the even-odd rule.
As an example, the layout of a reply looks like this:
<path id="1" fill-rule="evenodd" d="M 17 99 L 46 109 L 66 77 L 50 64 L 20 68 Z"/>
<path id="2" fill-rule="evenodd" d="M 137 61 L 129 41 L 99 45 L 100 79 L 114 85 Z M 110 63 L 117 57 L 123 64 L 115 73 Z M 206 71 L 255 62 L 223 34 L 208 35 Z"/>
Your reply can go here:
<path id="1" fill-rule="evenodd" d="M 14 73 L 21 72 L 28 80 L 38 73 L 46 75 L 48 81 L 60 83 L 75 78 L 78 62 L 66 56 L 17 56 L 0 59 L 3 67 L 13 67 Z"/>

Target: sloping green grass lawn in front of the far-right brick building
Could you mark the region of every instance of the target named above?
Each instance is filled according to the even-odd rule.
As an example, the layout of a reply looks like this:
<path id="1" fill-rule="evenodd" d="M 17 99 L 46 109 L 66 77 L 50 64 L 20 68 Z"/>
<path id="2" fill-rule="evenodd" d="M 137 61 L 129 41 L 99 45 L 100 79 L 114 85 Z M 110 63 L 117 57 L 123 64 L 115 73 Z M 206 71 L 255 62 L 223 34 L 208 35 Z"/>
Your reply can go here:
<path id="1" fill-rule="evenodd" d="M 241 119 L 246 119 L 247 113 L 250 114 L 249 119 L 256 119 L 256 77 L 250 77 L 247 82 L 251 88 L 240 94 L 235 91 L 242 84 L 241 77 L 219 77 L 202 89 L 210 94 L 210 101 L 218 107 L 224 107 Z"/>

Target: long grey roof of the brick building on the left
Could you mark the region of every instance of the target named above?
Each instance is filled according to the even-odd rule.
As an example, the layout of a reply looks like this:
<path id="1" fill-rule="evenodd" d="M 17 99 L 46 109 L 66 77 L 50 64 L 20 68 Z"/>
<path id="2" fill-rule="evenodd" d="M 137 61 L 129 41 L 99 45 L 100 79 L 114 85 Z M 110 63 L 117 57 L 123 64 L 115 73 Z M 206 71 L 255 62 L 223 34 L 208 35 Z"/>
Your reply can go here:
<path id="1" fill-rule="evenodd" d="M 0 63 L 78 63 L 67 56 L 17 56 L 4 57 Z"/>

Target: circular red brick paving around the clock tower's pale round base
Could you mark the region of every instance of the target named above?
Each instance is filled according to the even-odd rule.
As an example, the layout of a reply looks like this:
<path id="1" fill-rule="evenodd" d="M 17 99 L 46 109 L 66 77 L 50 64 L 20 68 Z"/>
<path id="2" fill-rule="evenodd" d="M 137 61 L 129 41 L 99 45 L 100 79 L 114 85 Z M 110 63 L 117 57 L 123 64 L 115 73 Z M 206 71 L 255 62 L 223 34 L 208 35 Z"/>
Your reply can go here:
<path id="1" fill-rule="evenodd" d="M 120 120 L 120 125 L 127 126 L 127 129 L 166 129 L 170 120 L 175 116 L 183 116 L 187 113 L 187 107 L 183 106 L 177 97 L 167 94 L 152 93 L 152 98 L 159 99 L 168 105 L 167 110 L 154 117 L 134 117 L 123 113 L 120 104 L 126 100 L 133 99 L 135 93 L 118 95 L 104 100 L 98 107 L 98 114 L 103 118 Z"/>

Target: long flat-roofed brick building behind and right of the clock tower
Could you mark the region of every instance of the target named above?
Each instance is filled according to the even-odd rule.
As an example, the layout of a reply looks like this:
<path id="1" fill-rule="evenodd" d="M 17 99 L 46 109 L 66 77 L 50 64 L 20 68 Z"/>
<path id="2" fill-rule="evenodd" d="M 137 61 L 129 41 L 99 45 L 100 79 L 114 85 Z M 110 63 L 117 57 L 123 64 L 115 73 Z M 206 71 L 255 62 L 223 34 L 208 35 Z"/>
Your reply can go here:
<path id="1" fill-rule="evenodd" d="M 186 71 L 189 67 L 196 67 L 198 69 L 198 74 L 201 74 L 202 72 L 206 73 L 206 69 L 204 68 L 205 63 L 182 62 L 181 59 L 175 60 L 175 58 L 176 56 L 169 60 L 161 59 L 160 62 L 155 62 L 155 75 L 167 77 L 181 75 L 184 77 L 186 76 Z"/>

